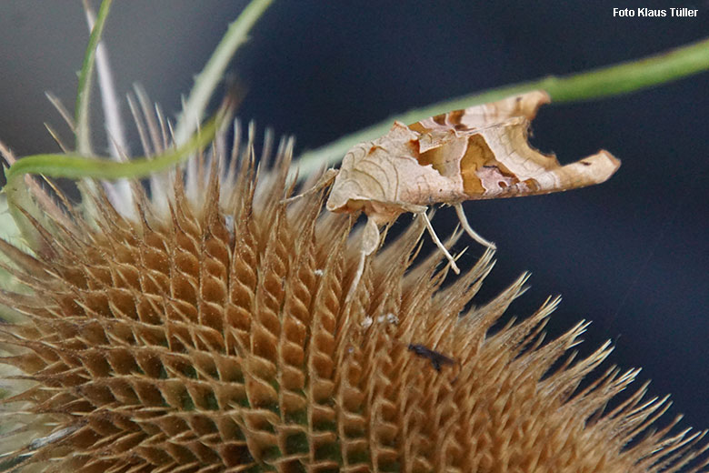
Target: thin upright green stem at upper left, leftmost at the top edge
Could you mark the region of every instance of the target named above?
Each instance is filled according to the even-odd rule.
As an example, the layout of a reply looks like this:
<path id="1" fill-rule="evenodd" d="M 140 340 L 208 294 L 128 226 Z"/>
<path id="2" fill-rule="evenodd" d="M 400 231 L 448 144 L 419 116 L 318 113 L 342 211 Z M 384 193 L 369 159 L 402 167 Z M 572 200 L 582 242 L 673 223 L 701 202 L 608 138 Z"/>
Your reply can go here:
<path id="1" fill-rule="evenodd" d="M 113 0 L 104 0 L 96 16 L 94 28 L 91 30 L 88 45 L 84 55 L 84 64 L 79 74 L 79 86 L 76 90 L 76 152 L 80 155 L 91 155 L 91 136 L 89 134 L 89 98 L 91 96 L 91 76 L 94 73 L 96 47 L 104 33 L 105 19 L 111 9 Z"/>

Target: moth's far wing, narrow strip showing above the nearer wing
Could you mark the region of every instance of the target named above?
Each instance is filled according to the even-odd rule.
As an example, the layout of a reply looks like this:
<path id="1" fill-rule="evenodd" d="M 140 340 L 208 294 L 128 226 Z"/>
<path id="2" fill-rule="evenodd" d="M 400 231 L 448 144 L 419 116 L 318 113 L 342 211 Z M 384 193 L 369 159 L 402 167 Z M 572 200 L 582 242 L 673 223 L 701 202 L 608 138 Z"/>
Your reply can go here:
<path id="1" fill-rule="evenodd" d="M 546 92 L 534 90 L 489 104 L 431 116 L 414 123 L 409 128 L 419 133 L 454 130 L 456 135 L 461 135 L 466 131 L 492 126 L 518 116 L 531 121 L 539 107 L 549 102 L 551 98 Z"/>

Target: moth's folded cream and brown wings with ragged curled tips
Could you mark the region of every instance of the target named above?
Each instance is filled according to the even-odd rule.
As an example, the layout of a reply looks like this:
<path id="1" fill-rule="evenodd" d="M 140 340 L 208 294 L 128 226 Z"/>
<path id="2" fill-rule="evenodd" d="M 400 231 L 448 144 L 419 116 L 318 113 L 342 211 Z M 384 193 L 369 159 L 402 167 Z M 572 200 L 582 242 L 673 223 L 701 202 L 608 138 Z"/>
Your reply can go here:
<path id="1" fill-rule="evenodd" d="M 420 134 L 419 164 L 460 182 L 458 200 L 547 194 L 607 180 L 620 166 L 607 151 L 562 166 L 529 144 L 529 123 L 549 101 L 533 91 L 416 122 L 409 127 Z"/>

